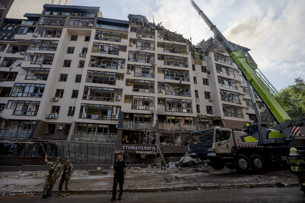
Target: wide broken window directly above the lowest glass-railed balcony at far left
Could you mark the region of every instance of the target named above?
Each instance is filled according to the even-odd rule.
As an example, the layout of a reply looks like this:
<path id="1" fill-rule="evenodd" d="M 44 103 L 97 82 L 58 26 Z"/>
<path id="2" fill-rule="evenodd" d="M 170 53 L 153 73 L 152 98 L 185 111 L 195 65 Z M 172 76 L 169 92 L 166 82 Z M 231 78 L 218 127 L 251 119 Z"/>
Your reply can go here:
<path id="1" fill-rule="evenodd" d="M 39 101 L 9 100 L 7 102 L 7 108 L 14 109 L 13 115 L 20 115 L 20 116 L 36 116 L 39 105 L 40 105 Z"/>

